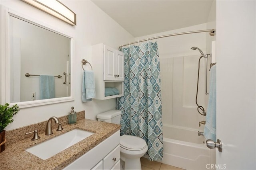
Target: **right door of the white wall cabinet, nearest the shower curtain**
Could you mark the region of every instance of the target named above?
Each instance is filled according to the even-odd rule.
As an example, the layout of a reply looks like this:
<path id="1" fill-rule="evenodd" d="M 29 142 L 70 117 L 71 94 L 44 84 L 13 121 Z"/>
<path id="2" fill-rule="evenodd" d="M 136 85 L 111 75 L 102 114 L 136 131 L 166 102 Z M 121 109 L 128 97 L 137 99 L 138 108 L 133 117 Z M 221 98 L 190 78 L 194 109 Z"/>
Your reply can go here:
<path id="1" fill-rule="evenodd" d="M 124 53 L 116 51 L 116 74 L 117 81 L 124 81 Z"/>

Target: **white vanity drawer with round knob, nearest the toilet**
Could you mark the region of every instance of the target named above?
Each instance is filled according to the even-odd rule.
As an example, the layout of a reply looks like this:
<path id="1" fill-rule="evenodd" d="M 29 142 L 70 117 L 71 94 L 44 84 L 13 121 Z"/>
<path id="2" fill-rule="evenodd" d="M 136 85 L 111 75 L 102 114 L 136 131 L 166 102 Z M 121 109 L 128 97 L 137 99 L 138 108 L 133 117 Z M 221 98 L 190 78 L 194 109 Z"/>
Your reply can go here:
<path id="1" fill-rule="evenodd" d="M 120 145 L 113 149 L 105 158 L 103 158 L 103 169 L 110 170 L 120 159 Z"/>

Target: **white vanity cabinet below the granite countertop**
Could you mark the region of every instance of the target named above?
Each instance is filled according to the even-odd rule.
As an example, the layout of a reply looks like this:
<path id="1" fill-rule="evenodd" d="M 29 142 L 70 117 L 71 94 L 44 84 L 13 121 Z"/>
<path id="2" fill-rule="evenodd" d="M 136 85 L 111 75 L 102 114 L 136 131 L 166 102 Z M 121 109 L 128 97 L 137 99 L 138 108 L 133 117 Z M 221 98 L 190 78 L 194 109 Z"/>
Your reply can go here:
<path id="1" fill-rule="evenodd" d="M 120 131 L 80 156 L 64 170 L 120 170 Z"/>

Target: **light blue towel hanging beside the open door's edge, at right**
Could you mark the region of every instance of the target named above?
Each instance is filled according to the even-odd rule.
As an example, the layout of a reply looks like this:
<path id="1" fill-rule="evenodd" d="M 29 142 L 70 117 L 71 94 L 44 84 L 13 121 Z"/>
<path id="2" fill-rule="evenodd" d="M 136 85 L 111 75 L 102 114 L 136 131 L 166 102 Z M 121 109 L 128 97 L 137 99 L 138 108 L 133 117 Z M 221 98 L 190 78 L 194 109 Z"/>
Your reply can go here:
<path id="1" fill-rule="evenodd" d="M 210 92 L 208 108 L 206 112 L 206 123 L 204 126 L 204 137 L 216 141 L 216 65 L 210 71 Z"/>

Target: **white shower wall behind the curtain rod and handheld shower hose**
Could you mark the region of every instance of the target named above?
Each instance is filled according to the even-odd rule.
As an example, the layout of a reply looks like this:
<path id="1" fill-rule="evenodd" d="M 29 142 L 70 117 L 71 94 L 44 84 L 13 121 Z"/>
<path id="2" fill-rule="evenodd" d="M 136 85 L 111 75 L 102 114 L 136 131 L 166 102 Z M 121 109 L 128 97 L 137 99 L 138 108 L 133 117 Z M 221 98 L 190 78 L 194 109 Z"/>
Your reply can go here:
<path id="1" fill-rule="evenodd" d="M 136 37 L 136 40 L 147 39 L 160 35 L 181 33 L 206 29 L 206 23 Z M 162 90 L 163 123 L 202 130 L 198 122 L 205 119 L 197 112 L 195 103 L 198 59 L 200 52 L 192 50 L 198 47 L 206 53 L 206 37 L 208 33 L 194 33 L 157 39 Z M 152 39 L 155 41 L 155 39 Z M 200 79 L 198 90 L 198 104 L 207 109 L 208 96 L 205 95 L 205 59 L 200 61 Z"/>

